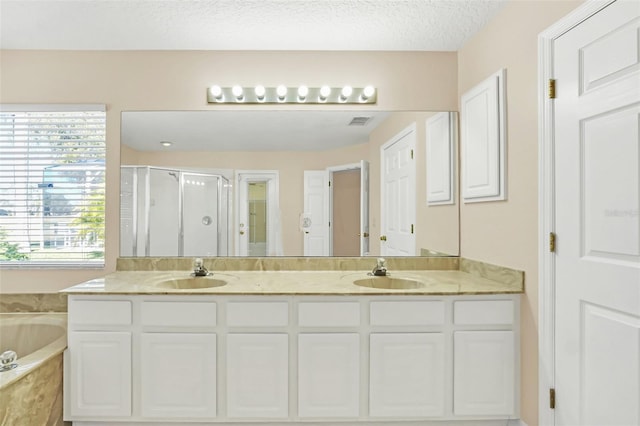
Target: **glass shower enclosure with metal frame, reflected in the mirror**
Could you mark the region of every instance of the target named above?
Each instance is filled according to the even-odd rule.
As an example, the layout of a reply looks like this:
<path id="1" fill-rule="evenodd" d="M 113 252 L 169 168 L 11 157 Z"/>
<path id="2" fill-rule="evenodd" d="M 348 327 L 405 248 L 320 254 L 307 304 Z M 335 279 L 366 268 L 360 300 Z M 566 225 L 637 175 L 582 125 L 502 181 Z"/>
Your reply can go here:
<path id="1" fill-rule="evenodd" d="M 121 166 L 120 256 L 227 256 L 228 250 L 228 179 Z"/>

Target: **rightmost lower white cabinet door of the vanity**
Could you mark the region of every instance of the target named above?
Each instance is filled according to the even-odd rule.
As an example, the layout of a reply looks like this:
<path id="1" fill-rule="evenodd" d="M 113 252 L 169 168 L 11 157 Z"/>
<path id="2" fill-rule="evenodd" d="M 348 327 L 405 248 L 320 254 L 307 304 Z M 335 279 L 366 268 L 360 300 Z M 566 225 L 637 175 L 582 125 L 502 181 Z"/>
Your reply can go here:
<path id="1" fill-rule="evenodd" d="M 456 415 L 513 414 L 512 331 L 454 333 L 453 411 Z"/>

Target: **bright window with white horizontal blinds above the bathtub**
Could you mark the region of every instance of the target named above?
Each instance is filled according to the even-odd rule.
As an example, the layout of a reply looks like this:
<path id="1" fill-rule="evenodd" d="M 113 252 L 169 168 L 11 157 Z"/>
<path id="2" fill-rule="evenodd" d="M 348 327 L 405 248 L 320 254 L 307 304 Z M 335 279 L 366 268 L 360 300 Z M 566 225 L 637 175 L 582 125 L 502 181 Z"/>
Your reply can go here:
<path id="1" fill-rule="evenodd" d="M 0 105 L 0 266 L 104 266 L 104 105 Z"/>

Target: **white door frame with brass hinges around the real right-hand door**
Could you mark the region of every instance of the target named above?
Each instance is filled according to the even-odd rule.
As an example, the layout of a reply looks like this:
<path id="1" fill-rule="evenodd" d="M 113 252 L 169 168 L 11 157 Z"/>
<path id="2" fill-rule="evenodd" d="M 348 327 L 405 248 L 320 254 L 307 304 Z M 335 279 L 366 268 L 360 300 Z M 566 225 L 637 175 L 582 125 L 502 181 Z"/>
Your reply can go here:
<path id="1" fill-rule="evenodd" d="M 555 232 L 554 118 L 549 80 L 554 78 L 556 39 L 615 0 L 586 0 L 538 35 L 538 420 L 555 424 L 549 390 L 555 388 L 555 255 L 549 238 Z"/>

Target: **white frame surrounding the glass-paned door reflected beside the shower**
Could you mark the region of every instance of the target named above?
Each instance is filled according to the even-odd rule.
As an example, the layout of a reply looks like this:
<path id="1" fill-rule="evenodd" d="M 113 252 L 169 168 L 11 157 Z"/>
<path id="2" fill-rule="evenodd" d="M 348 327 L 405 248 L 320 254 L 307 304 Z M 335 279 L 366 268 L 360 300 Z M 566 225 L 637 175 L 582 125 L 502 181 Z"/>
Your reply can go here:
<path id="1" fill-rule="evenodd" d="M 268 208 L 267 208 L 267 256 L 273 256 L 269 254 L 272 250 L 278 250 L 278 241 L 277 234 L 281 231 L 278 231 L 276 227 L 278 226 L 277 217 L 279 215 L 280 210 L 280 178 L 278 170 L 237 170 L 236 171 L 236 211 L 235 211 L 235 238 L 234 240 L 234 253 L 236 256 L 241 256 L 240 254 L 240 203 L 243 202 L 243 188 L 245 185 L 248 187 L 248 184 L 251 182 L 267 182 L 267 199 Z M 248 189 L 247 189 L 248 191 Z M 248 201 L 248 200 L 244 200 Z M 247 227 L 246 230 L 249 228 Z M 248 238 L 248 235 L 247 235 Z M 245 254 L 244 256 L 248 256 Z"/>

